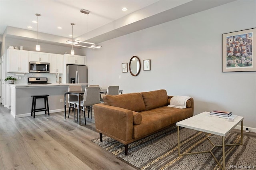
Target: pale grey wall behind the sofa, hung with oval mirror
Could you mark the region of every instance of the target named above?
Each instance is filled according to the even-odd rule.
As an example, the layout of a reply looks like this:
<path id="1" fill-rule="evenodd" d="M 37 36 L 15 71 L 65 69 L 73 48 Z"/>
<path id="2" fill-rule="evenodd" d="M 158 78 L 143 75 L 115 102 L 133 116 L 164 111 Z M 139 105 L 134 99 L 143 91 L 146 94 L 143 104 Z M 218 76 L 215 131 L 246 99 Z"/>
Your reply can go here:
<path id="1" fill-rule="evenodd" d="M 85 51 L 88 83 L 124 93 L 166 89 L 192 96 L 195 114 L 232 111 L 256 128 L 256 72 L 222 73 L 222 34 L 255 27 L 256 1 L 235 1 L 100 43 Z M 133 55 L 151 59 L 151 71 L 122 73 Z"/>

